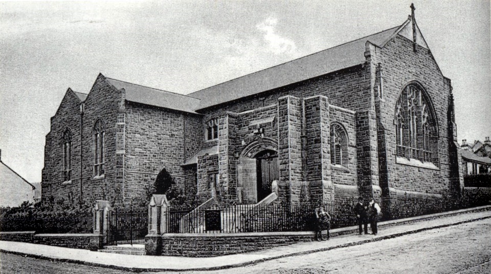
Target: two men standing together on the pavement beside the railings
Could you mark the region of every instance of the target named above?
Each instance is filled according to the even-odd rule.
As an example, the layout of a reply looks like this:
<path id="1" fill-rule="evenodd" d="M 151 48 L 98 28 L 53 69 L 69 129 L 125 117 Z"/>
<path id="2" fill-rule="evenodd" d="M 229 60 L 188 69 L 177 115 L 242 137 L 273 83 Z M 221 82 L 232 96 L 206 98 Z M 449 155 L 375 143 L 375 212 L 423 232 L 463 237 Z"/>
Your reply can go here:
<path id="1" fill-rule="evenodd" d="M 372 230 L 373 235 L 377 235 L 377 222 L 378 222 L 378 214 L 380 214 L 381 208 L 375 203 L 375 201 L 370 199 L 368 204 L 363 202 L 363 198 L 358 198 L 358 204 L 354 207 L 354 213 L 356 214 L 356 218 L 358 219 L 358 233 L 361 235 L 364 231 L 365 234 L 368 234 L 368 222 L 370 222 L 370 229 Z M 363 230 L 362 230 L 363 225 Z"/>

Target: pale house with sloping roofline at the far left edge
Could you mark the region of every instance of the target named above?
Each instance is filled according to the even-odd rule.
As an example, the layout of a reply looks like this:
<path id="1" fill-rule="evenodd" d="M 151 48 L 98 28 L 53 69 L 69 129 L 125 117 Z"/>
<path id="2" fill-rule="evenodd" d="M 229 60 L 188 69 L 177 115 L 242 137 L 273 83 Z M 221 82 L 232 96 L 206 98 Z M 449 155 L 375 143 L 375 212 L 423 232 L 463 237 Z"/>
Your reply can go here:
<path id="1" fill-rule="evenodd" d="M 18 175 L 2 161 L 0 150 L 0 207 L 17 207 L 23 202 L 33 203 L 36 187 Z"/>

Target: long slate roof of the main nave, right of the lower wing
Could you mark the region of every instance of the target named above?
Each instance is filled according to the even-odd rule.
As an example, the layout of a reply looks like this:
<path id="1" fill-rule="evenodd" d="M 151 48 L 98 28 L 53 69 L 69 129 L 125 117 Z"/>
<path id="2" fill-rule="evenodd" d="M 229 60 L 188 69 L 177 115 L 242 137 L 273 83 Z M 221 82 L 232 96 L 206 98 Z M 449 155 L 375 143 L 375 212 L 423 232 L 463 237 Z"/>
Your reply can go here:
<path id="1" fill-rule="evenodd" d="M 407 24 L 407 22 L 405 23 Z M 403 24 L 404 25 L 404 24 Z M 188 94 L 201 99 L 199 109 L 283 87 L 341 69 L 364 64 L 365 44 L 383 47 L 400 26 L 329 48 L 284 64 Z"/>

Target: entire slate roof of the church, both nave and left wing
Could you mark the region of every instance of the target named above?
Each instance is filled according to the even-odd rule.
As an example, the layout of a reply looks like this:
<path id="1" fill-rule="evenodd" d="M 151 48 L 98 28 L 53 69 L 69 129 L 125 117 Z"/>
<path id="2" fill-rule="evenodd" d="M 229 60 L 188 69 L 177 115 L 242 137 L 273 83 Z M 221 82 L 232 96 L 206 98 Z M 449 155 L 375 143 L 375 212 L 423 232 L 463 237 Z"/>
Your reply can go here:
<path id="1" fill-rule="evenodd" d="M 310 54 L 284 64 L 238 77 L 188 95 L 148 88 L 112 78 L 106 80 L 116 89 L 125 89 L 126 100 L 172 110 L 196 113 L 197 110 L 243 97 L 277 89 L 342 69 L 365 63 L 366 43 L 384 47 L 399 34 L 413 38 L 412 17 L 402 25 L 348 43 Z M 425 39 L 415 24 L 416 43 L 428 49 Z M 83 96 L 82 94 L 77 96 Z M 86 95 L 85 95 L 86 96 Z"/>

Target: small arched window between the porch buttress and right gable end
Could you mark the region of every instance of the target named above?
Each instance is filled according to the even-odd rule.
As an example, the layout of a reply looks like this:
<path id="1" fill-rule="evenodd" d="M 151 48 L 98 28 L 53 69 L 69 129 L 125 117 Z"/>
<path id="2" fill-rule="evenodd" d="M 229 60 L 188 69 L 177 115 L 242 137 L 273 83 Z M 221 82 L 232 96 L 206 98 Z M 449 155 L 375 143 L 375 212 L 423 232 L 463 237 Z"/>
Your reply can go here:
<path id="1" fill-rule="evenodd" d="M 333 123 L 330 127 L 331 136 L 331 164 L 348 167 L 348 136 L 343 126 Z"/>

